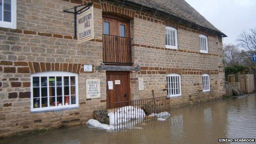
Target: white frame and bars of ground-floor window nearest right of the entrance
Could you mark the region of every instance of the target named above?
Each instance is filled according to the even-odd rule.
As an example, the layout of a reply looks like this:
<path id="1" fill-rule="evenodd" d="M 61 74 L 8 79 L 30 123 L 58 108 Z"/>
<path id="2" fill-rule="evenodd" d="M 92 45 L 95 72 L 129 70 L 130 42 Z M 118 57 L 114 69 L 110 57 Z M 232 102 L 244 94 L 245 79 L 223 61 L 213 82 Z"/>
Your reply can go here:
<path id="1" fill-rule="evenodd" d="M 175 77 L 178 77 L 179 82 L 176 82 L 176 78 Z M 181 96 L 181 75 L 177 74 L 177 73 L 171 73 L 171 74 L 166 75 L 166 78 L 167 78 L 167 96 L 168 97 Z M 171 84 L 171 87 L 169 87 L 169 83 L 171 82 L 170 78 L 173 81 L 173 83 Z M 178 85 L 174 85 L 174 83 L 178 83 Z M 179 94 L 177 94 L 178 93 L 177 92 L 177 86 L 178 86 Z M 174 88 L 172 88 L 172 87 L 174 87 Z M 174 94 L 170 94 L 171 93 L 170 92 L 171 89 L 175 89 Z"/>

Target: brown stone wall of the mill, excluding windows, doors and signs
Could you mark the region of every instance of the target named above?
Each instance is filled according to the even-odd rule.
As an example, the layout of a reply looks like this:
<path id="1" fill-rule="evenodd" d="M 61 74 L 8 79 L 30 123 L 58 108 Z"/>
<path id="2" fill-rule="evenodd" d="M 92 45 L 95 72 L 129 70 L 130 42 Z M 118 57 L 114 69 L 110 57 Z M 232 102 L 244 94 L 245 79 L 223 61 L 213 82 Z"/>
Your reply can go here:
<path id="1" fill-rule="evenodd" d="M 18 0 L 17 29 L 0 28 L 0 137 L 41 129 L 85 124 L 94 110 L 106 108 L 106 73 L 96 68 L 102 57 L 102 13 L 131 19 L 132 59 L 141 71 L 130 73 L 131 100 L 166 96 L 166 75 L 181 74 L 182 96 L 173 106 L 212 100 L 225 94 L 222 38 L 184 23 L 110 2 L 94 1 L 94 39 L 77 44 L 73 14 L 64 9 L 82 0 Z M 178 50 L 165 48 L 165 26 L 176 27 Z M 200 53 L 199 34 L 208 36 L 208 54 Z M 91 64 L 92 72 L 83 65 Z M 42 71 L 78 73 L 79 108 L 30 112 L 30 74 Z M 202 74 L 210 91 L 202 92 Z M 138 78 L 144 90 L 138 90 Z M 86 79 L 101 80 L 101 98 L 86 99 Z"/>

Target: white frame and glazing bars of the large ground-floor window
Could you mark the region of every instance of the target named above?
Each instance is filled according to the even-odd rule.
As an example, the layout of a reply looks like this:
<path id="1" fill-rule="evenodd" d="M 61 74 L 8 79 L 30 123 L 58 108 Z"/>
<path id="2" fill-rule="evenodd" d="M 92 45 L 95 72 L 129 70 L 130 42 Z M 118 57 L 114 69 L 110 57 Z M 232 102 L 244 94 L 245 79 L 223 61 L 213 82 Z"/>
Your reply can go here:
<path id="1" fill-rule="evenodd" d="M 64 76 L 75 76 L 75 104 L 70 105 L 61 105 L 61 106 L 51 106 L 51 107 L 41 107 L 41 77 L 47 77 L 47 98 L 48 98 L 48 106 L 49 106 L 49 77 L 62 77 L 62 87 L 64 87 Z M 39 108 L 34 108 L 33 104 L 33 77 L 39 77 Z M 56 79 L 56 78 L 55 78 Z M 56 82 L 55 82 L 56 87 Z M 71 73 L 66 71 L 46 71 L 46 72 L 39 72 L 39 73 L 33 73 L 30 75 L 30 91 L 31 91 L 31 97 L 30 97 L 30 103 L 31 103 L 31 112 L 42 112 L 42 111 L 55 111 L 55 110 L 63 110 L 66 108 L 74 108 L 78 107 L 78 74 L 77 73 Z M 55 88 L 55 95 L 56 88 Z M 70 78 L 69 78 L 69 102 L 71 103 L 71 90 L 70 90 Z M 62 89 L 62 97 L 64 98 L 64 89 Z M 55 99 L 56 100 L 56 99 Z M 56 103 L 55 103 L 56 104 Z"/>

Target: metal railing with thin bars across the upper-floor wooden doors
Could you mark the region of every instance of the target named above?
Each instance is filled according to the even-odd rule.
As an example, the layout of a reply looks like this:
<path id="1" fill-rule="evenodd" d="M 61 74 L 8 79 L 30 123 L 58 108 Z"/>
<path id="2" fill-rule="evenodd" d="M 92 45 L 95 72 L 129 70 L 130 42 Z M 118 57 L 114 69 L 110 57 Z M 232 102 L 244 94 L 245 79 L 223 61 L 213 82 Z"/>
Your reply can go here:
<path id="1" fill-rule="evenodd" d="M 132 64 L 132 38 L 102 34 L 103 62 L 106 64 Z"/>

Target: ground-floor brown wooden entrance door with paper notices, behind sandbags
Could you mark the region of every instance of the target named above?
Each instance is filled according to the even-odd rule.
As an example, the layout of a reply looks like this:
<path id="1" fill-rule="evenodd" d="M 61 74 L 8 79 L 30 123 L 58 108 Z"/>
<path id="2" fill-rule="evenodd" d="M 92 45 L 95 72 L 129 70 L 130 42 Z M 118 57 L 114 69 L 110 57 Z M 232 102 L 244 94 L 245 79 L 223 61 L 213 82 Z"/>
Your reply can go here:
<path id="1" fill-rule="evenodd" d="M 130 72 L 107 71 L 107 108 L 123 107 L 130 101 Z M 109 87 L 113 84 L 113 88 Z M 114 105 L 114 102 L 123 102 Z"/>

